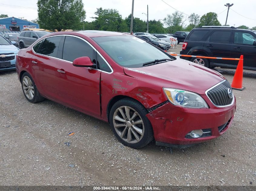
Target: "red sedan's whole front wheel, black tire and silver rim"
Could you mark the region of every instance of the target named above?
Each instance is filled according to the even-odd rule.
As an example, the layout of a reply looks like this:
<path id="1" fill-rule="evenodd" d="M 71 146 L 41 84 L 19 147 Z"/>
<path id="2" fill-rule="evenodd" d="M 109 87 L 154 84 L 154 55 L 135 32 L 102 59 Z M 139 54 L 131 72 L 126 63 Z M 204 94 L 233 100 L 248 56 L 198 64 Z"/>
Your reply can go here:
<path id="1" fill-rule="evenodd" d="M 110 125 L 117 139 L 131 148 L 142 148 L 153 140 L 153 129 L 146 117 L 148 111 L 136 100 L 117 101 L 110 111 Z"/>

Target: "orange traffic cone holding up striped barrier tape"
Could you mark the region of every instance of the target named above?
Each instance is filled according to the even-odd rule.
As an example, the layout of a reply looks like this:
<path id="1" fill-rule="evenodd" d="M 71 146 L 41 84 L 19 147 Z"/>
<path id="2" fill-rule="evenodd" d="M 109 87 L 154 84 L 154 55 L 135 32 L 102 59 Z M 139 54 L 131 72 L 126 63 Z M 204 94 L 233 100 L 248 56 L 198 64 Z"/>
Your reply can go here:
<path id="1" fill-rule="evenodd" d="M 244 56 L 240 56 L 240 60 L 238 62 L 236 72 L 231 84 L 231 88 L 233 90 L 240 90 L 242 91 L 245 87 L 243 87 L 243 62 L 244 62 Z"/>

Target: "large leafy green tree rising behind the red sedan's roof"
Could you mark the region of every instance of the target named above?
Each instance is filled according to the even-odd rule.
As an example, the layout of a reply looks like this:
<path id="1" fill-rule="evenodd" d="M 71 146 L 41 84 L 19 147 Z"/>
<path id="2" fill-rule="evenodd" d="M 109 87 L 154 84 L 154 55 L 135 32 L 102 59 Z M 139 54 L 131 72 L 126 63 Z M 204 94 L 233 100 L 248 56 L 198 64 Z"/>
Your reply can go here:
<path id="1" fill-rule="evenodd" d="M 38 24 L 41 28 L 76 29 L 85 18 L 82 0 L 38 0 Z"/>

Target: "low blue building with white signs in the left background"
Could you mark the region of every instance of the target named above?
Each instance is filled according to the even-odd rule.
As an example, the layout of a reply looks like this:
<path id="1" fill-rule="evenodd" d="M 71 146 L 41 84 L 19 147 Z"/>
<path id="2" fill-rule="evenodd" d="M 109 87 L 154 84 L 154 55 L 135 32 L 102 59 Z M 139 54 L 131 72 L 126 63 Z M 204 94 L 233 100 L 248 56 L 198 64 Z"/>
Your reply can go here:
<path id="1" fill-rule="evenodd" d="M 22 31 L 22 29 L 26 28 L 39 29 L 39 25 L 15 17 L 0 18 L 0 30 L 8 29 L 10 31 Z"/>

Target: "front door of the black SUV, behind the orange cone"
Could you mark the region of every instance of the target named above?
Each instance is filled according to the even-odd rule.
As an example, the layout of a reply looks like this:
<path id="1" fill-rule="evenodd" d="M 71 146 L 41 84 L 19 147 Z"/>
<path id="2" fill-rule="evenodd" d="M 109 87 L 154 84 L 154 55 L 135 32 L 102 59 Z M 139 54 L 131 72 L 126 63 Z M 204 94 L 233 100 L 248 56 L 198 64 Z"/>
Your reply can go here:
<path id="1" fill-rule="evenodd" d="M 233 31 L 231 57 L 240 58 L 244 55 L 244 67 L 256 68 L 256 34 L 247 31 Z M 238 61 L 234 62 L 237 65 Z"/>

